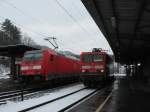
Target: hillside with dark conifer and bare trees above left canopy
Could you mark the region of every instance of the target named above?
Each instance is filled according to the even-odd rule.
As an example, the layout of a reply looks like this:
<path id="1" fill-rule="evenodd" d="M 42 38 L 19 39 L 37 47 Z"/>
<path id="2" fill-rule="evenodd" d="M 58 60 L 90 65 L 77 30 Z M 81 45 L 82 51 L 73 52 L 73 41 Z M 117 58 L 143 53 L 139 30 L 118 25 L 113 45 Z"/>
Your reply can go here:
<path id="1" fill-rule="evenodd" d="M 23 35 L 20 29 L 15 26 L 9 19 L 5 19 L 5 21 L 0 26 L 0 40 L 0 46 L 36 44 L 28 35 Z"/>

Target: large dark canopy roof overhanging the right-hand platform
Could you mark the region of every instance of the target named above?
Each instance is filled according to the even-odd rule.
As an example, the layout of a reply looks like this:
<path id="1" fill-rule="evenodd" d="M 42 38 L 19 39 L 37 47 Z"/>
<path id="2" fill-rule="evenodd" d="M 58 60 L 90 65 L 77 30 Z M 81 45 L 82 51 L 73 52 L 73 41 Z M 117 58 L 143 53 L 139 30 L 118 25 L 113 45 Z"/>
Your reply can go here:
<path id="1" fill-rule="evenodd" d="M 82 0 L 108 40 L 115 59 L 140 62 L 150 56 L 150 0 Z"/>

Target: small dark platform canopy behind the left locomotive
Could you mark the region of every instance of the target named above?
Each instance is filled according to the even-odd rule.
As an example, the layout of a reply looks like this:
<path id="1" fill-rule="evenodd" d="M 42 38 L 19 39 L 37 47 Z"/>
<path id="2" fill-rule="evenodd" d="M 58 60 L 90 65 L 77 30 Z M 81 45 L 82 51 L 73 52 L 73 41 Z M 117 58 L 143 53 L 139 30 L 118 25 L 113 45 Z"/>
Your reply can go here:
<path id="1" fill-rule="evenodd" d="M 0 56 L 21 58 L 26 51 L 30 50 L 38 50 L 38 48 L 23 44 L 0 46 Z"/>

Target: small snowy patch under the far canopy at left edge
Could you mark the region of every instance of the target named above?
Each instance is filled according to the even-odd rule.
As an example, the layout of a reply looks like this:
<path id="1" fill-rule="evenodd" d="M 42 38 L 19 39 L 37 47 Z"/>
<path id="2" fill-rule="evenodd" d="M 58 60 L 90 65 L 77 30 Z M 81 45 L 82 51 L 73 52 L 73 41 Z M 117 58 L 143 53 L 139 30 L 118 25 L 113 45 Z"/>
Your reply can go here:
<path id="1" fill-rule="evenodd" d="M 10 78 L 8 74 L 10 74 L 10 69 L 4 65 L 0 65 L 0 79 Z"/>

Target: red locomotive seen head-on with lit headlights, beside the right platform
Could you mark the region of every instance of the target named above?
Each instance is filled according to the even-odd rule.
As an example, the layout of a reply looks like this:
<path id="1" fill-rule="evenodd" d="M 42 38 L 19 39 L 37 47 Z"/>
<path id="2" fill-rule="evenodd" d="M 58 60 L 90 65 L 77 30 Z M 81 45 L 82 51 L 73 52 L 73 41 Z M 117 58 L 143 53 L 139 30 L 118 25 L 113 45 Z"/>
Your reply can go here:
<path id="1" fill-rule="evenodd" d="M 80 55 L 82 74 L 81 81 L 85 86 L 101 86 L 113 79 L 113 61 L 104 51 L 94 48 L 92 52 L 82 52 Z"/>

